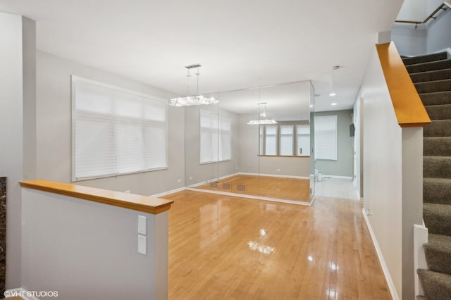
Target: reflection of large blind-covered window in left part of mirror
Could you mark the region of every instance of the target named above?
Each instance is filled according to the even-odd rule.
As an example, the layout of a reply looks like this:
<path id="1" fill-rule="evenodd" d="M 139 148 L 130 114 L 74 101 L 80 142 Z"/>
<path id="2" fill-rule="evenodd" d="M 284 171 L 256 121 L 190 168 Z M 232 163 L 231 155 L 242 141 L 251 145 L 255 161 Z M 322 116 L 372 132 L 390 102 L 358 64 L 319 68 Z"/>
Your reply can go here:
<path id="1" fill-rule="evenodd" d="M 232 121 L 211 111 L 200 111 L 200 163 L 232 159 Z"/>

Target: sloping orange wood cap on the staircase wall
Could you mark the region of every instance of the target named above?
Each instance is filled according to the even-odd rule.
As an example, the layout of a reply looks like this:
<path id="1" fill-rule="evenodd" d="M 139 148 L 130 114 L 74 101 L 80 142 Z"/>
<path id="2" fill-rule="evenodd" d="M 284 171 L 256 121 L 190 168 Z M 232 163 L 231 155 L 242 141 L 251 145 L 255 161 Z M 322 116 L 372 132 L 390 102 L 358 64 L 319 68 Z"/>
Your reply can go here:
<path id="1" fill-rule="evenodd" d="M 418 92 L 393 42 L 376 45 L 379 60 L 401 127 L 423 127 L 431 123 Z"/>

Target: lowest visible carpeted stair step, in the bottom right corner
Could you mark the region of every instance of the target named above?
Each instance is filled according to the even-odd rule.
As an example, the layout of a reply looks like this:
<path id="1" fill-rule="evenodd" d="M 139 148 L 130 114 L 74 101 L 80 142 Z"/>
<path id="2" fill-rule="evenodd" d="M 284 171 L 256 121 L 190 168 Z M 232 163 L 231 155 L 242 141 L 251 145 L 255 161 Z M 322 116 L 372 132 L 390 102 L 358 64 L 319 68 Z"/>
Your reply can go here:
<path id="1" fill-rule="evenodd" d="M 423 269 L 416 270 L 416 273 L 418 273 L 424 294 L 428 299 L 450 299 L 451 275 Z"/>

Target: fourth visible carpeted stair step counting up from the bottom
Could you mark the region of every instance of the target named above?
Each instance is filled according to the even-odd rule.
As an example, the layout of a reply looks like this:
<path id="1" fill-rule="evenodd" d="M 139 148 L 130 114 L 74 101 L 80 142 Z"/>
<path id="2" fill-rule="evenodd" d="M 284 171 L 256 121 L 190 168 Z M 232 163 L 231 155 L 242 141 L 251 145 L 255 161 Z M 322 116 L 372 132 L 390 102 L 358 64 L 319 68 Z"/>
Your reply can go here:
<path id="1" fill-rule="evenodd" d="M 423 179 L 423 202 L 451 205 L 451 179 Z"/>

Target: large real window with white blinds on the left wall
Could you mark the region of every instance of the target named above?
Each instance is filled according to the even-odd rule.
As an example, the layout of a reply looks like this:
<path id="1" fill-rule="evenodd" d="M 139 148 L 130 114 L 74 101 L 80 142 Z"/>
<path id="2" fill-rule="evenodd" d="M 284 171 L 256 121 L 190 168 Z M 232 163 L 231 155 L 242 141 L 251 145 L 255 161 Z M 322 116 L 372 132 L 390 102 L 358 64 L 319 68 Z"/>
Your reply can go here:
<path id="1" fill-rule="evenodd" d="M 72 77 L 73 181 L 167 168 L 167 104 Z"/>

